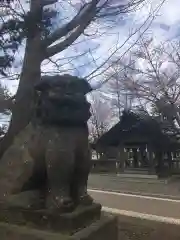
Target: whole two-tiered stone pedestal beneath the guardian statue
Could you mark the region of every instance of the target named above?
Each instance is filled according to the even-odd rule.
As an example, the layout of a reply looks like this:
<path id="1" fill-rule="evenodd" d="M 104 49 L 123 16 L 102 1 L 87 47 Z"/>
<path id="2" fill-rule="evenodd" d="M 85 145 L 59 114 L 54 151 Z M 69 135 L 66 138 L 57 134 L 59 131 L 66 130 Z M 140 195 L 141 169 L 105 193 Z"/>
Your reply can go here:
<path id="1" fill-rule="evenodd" d="M 46 210 L 0 210 L 1 240 L 117 240 L 116 218 L 101 214 L 101 205 L 79 207 L 72 213 Z"/>

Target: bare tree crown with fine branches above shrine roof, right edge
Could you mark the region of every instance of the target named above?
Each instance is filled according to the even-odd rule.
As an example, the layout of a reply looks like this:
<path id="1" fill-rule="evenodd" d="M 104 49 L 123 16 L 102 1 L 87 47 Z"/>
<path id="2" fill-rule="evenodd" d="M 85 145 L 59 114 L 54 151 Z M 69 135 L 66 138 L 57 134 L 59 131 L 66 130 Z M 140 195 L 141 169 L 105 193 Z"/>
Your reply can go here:
<path id="1" fill-rule="evenodd" d="M 142 38 L 131 52 L 130 61 L 117 65 L 127 71 L 121 85 L 136 102 L 154 106 L 159 114 L 180 127 L 180 52 L 179 42 L 154 46 L 153 39 Z M 150 106 L 149 105 L 149 106 Z"/>

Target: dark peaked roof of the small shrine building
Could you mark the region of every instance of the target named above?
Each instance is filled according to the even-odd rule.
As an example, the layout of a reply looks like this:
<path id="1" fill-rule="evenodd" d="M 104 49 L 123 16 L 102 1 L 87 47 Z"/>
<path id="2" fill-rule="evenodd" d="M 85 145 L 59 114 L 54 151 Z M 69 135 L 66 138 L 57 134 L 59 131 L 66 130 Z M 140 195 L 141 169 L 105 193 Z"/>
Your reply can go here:
<path id="1" fill-rule="evenodd" d="M 146 112 L 130 110 L 123 112 L 120 121 L 99 138 L 96 146 L 118 146 L 130 142 L 151 143 L 158 148 L 179 147 L 173 127 L 167 122 L 162 123 Z"/>

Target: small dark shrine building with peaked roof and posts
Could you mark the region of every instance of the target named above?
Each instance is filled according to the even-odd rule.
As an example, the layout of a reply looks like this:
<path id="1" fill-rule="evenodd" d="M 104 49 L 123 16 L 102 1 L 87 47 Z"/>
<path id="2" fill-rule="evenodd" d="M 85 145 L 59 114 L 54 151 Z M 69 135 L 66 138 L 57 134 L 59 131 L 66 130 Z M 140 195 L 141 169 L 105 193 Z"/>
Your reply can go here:
<path id="1" fill-rule="evenodd" d="M 145 112 L 124 111 L 121 120 L 97 141 L 96 149 L 103 160 L 114 158 L 120 172 L 145 169 L 167 176 L 172 173 L 172 153 L 180 144 L 176 129 L 167 122 Z"/>

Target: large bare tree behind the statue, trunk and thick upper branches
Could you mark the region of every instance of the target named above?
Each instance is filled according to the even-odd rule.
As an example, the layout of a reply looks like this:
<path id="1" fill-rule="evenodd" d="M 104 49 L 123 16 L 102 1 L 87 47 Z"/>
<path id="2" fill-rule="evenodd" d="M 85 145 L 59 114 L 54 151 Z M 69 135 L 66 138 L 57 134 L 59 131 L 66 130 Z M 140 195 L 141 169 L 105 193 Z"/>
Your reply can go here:
<path id="1" fill-rule="evenodd" d="M 31 0 L 28 17 L 32 21 L 27 28 L 27 38 L 25 55 L 22 64 L 22 71 L 19 80 L 19 87 L 15 97 L 15 104 L 12 109 L 12 118 L 8 133 L 1 141 L 1 153 L 11 144 L 14 136 L 27 125 L 30 120 L 33 109 L 33 86 L 40 80 L 42 62 L 50 60 L 56 54 L 75 44 L 80 36 L 90 36 L 92 33 L 91 25 L 98 24 L 101 19 L 112 21 L 119 15 L 134 11 L 144 0 L 91 0 L 91 1 L 58 1 L 58 0 Z M 25 13 L 25 8 L 17 0 L 18 9 L 16 14 L 20 16 Z M 71 6 L 72 18 L 66 18 L 64 23 L 60 21 L 58 27 L 48 35 L 43 35 L 41 31 L 41 22 L 43 13 L 47 7 L 56 4 L 59 11 L 63 11 L 67 4 Z M 11 5 L 10 5 L 11 6 Z M 10 7 L 12 16 L 13 8 Z M 66 9 L 64 9 L 65 11 Z M 63 14 L 62 14 L 63 15 Z M 37 21 L 35 21 L 37 19 Z M 61 19 L 62 20 L 62 19 Z M 104 20 L 103 20 L 104 21 Z M 23 113 L 23 116 L 22 116 Z"/>

